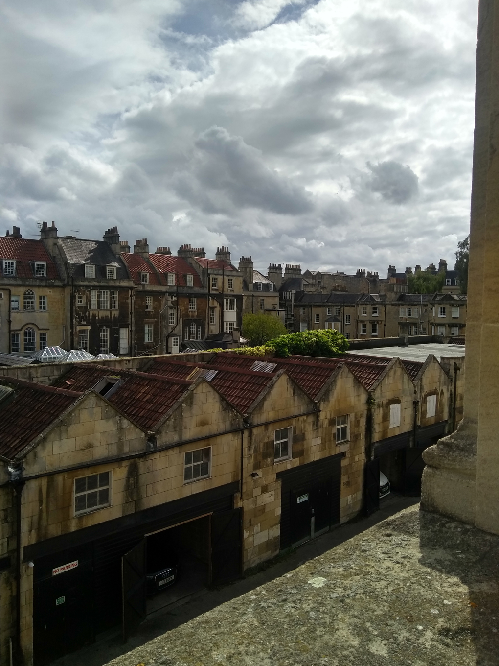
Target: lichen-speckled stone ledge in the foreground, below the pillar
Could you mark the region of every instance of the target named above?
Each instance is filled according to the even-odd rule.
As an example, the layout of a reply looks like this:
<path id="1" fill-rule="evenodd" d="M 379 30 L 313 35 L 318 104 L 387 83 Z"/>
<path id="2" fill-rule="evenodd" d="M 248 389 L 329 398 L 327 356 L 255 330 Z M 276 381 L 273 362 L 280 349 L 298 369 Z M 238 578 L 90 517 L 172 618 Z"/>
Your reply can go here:
<path id="1" fill-rule="evenodd" d="M 109 666 L 498 666 L 498 555 L 416 505 Z"/>

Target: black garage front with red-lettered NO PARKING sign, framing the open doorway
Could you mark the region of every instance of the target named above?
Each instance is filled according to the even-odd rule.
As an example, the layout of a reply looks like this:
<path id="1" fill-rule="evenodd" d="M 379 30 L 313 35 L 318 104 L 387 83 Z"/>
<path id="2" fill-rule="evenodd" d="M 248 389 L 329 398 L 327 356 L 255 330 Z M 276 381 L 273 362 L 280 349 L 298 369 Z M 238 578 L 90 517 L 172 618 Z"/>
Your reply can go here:
<path id="1" fill-rule="evenodd" d="M 240 510 L 233 509 L 237 484 L 234 488 L 232 485 L 25 547 L 24 561 L 35 563 L 35 666 L 45 666 L 91 643 L 98 633 L 122 622 L 122 556 L 143 541 L 147 533 L 211 513 L 217 535 L 212 546 L 217 582 L 222 582 L 224 575 L 240 576 L 242 521 Z M 178 510 L 172 511 L 174 508 Z M 161 517 L 162 512 L 166 515 Z M 108 536 L 101 536 L 106 531 Z M 83 543 L 78 543 L 83 539 Z M 229 543 L 230 557 L 224 548 Z"/>

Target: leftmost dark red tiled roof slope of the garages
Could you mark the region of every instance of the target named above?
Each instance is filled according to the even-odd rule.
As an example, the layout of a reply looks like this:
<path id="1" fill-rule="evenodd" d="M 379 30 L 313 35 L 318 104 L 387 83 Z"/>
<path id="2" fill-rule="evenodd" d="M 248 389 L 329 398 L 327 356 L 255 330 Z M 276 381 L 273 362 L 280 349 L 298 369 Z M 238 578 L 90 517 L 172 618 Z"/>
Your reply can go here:
<path id="1" fill-rule="evenodd" d="M 9 377 L 15 398 L 0 403 L 0 454 L 12 460 L 60 416 L 81 393 Z"/>

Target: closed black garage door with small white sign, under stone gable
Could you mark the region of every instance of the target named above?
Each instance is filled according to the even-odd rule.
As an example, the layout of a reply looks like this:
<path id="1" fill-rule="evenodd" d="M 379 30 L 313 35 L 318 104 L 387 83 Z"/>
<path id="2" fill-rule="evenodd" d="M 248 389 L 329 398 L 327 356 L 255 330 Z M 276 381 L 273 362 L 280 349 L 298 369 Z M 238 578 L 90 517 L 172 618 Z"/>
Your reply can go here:
<path id="1" fill-rule="evenodd" d="M 276 475 L 281 480 L 281 549 L 339 525 L 341 458 L 329 456 Z"/>

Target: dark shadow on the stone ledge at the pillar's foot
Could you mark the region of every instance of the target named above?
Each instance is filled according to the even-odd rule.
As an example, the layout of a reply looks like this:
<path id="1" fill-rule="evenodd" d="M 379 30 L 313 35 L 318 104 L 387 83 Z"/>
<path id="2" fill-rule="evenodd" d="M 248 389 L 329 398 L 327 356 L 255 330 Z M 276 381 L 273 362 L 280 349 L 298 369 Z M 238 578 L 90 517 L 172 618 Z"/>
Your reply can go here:
<path id="1" fill-rule="evenodd" d="M 458 627 L 440 626 L 438 638 L 448 647 L 472 641 L 476 666 L 499 664 L 499 536 L 435 513 L 419 512 L 420 560 L 432 571 L 468 587 L 462 603 L 469 620 Z M 455 585 L 459 585 L 456 581 Z M 441 589 L 438 594 L 442 594 Z M 494 631 L 495 629 L 495 631 Z M 470 665 L 471 666 L 471 665 Z"/>

